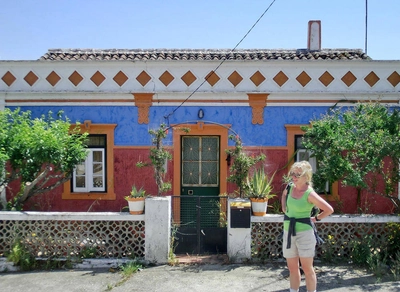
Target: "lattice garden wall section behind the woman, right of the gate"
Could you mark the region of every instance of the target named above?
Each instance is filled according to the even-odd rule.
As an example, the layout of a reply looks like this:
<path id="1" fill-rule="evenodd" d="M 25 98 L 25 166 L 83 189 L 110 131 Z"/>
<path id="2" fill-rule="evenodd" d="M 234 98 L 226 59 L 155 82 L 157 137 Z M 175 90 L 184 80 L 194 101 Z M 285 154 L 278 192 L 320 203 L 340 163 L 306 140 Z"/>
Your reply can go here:
<path id="1" fill-rule="evenodd" d="M 255 217 L 252 217 L 253 219 Z M 252 222 L 252 259 L 271 261 L 282 259 L 282 217 L 254 219 Z M 387 240 L 387 223 L 399 222 L 399 217 L 338 216 L 317 223 L 318 234 L 325 243 L 318 245 L 316 259 L 351 260 L 351 243 L 371 236 L 374 245 L 383 246 Z"/>

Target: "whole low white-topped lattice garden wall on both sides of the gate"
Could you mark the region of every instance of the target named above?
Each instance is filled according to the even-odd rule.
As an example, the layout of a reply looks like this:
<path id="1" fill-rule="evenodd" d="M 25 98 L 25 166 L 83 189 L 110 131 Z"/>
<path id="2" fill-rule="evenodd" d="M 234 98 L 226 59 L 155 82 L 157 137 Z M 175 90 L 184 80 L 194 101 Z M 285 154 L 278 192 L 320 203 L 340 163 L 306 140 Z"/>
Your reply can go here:
<path id="1" fill-rule="evenodd" d="M 162 242 L 169 242 L 171 226 L 166 224 L 163 227 L 166 232 L 159 232 L 157 228 L 162 225 L 160 223 L 171 221 L 171 212 L 160 212 L 160 208 L 157 209 L 160 203 L 166 210 L 171 205 L 161 199 L 152 200 L 151 204 L 156 206 L 152 208 L 154 212 L 149 208 L 147 211 L 154 216 L 147 214 L 147 217 L 107 212 L 0 212 L 0 257 L 5 257 L 16 240 L 20 240 L 37 258 L 146 257 L 152 262 L 165 263 L 170 246 Z M 249 257 L 252 261 L 282 260 L 282 222 L 283 215 L 251 217 L 251 232 L 245 248 L 251 248 Z M 400 217 L 332 215 L 325 218 L 317 223 L 319 235 L 325 240 L 317 247 L 317 258 L 348 260 L 351 243 L 362 241 L 366 236 L 374 244 L 383 245 L 391 236 L 389 222 L 399 223 Z M 145 241 L 145 227 L 149 229 L 146 234 L 148 242 Z"/>

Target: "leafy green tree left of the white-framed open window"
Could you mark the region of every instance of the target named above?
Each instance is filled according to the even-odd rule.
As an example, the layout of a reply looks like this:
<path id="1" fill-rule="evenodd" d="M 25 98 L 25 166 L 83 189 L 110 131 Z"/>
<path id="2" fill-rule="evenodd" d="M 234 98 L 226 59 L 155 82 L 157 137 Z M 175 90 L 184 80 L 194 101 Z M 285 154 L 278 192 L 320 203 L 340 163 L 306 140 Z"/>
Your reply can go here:
<path id="1" fill-rule="evenodd" d="M 6 166 L 0 167 L 0 186 L 21 182 L 12 207 L 63 184 L 86 159 L 87 134 L 80 134 L 79 123 L 72 131 L 70 126 L 62 112 L 32 118 L 30 111 L 0 111 L 0 163 Z"/>

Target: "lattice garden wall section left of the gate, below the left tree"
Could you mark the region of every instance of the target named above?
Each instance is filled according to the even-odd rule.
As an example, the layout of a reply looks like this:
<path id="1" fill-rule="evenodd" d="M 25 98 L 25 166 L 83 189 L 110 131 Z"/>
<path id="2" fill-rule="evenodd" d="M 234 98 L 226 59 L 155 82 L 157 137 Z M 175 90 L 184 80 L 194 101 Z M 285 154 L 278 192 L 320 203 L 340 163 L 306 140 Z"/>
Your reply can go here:
<path id="1" fill-rule="evenodd" d="M 49 218 L 43 220 L 32 214 L 32 219 L 18 220 L 2 216 L 0 256 L 10 251 L 16 240 L 21 240 L 33 255 L 43 258 L 144 257 L 144 218 L 137 221 L 132 220 L 133 216 L 106 214 L 86 213 L 68 218 L 47 215 L 42 217 Z"/>

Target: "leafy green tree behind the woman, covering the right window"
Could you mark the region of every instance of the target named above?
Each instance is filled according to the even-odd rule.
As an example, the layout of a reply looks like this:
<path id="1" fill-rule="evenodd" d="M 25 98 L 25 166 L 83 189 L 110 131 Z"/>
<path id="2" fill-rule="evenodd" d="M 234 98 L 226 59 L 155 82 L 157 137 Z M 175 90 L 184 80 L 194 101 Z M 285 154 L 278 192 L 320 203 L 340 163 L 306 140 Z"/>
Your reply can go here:
<path id="1" fill-rule="evenodd" d="M 318 161 L 316 178 L 389 198 L 399 212 L 400 114 L 379 102 L 337 108 L 303 127 Z"/>

